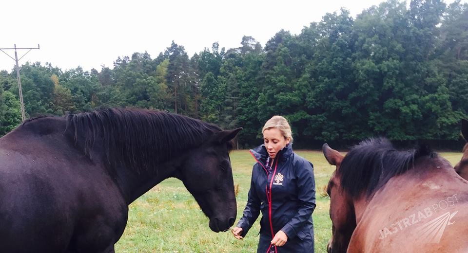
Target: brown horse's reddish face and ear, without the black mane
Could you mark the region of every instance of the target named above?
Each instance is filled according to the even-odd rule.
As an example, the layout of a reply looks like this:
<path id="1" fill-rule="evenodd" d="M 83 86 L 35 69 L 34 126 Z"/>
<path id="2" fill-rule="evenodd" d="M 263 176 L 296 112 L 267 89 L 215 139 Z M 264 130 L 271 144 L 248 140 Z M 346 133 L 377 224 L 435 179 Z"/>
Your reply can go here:
<path id="1" fill-rule="evenodd" d="M 327 246 L 329 253 L 346 252 L 352 232 L 356 227 L 354 207 L 351 196 L 343 191 L 340 181 L 340 165 L 344 156 L 324 144 L 323 154 L 331 165 L 336 166 L 330 181 L 327 193 L 330 196 L 330 218 L 332 222 L 332 236 Z"/>

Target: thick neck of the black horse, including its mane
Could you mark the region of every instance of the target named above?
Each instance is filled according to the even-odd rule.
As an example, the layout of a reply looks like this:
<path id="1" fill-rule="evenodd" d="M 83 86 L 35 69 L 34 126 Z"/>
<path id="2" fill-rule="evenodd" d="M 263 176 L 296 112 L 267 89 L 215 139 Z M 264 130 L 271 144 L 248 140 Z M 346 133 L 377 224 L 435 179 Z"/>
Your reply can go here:
<path id="1" fill-rule="evenodd" d="M 180 158 L 221 130 L 185 116 L 141 109 L 104 109 L 67 117 L 78 150 L 103 163 L 132 202 L 174 176 Z"/>

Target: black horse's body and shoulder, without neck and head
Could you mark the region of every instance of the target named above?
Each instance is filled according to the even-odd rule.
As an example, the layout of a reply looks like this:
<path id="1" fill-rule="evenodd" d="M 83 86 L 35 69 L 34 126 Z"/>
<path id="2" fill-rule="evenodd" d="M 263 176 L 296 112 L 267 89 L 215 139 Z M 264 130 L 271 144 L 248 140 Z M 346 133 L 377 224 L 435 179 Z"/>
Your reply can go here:
<path id="1" fill-rule="evenodd" d="M 83 252 L 92 252 L 120 236 L 102 238 L 101 246 L 79 235 L 89 230 L 78 225 L 82 223 L 97 232 L 93 226 L 115 230 L 93 218 L 96 215 L 124 226 L 128 209 L 121 196 L 115 196 L 118 189 L 103 176 L 99 162 L 81 154 L 65 129 L 65 118 L 41 117 L 0 138 L 1 252 L 65 252 L 74 241 L 84 240 L 90 247 Z M 115 206 L 121 213 L 106 211 Z"/>

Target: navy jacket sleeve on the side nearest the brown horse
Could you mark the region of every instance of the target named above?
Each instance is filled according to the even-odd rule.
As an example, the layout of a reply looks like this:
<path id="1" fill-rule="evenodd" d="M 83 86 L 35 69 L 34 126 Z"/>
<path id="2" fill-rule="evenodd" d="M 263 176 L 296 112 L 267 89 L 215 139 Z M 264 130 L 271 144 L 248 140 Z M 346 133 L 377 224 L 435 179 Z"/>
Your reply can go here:
<path id="1" fill-rule="evenodd" d="M 281 229 L 289 239 L 294 238 L 299 230 L 311 217 L 315 209 L 315 179 L 313 165 L 305 159 L 300 159 L 294 165 L 297 175 L 299 208 L 296 215 Z"/>

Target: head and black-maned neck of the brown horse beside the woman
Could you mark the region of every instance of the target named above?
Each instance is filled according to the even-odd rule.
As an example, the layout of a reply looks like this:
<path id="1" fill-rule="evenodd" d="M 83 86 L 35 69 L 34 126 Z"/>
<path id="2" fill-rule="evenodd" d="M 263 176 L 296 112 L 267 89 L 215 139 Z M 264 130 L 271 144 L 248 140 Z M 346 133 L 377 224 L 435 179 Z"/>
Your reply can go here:
<path id="1" fill-rule="evenodd" d="M 394 176 L 414 168 L 414 161 L 435 156 L 428 146 L 399 151 L 385 138 L 370 138 L 342 156 L 323 145 L 327 161 L 336 166 L 328 184 L 332 238 L 329 252 L 346 252 L 368 200 Z"/>

